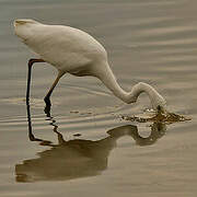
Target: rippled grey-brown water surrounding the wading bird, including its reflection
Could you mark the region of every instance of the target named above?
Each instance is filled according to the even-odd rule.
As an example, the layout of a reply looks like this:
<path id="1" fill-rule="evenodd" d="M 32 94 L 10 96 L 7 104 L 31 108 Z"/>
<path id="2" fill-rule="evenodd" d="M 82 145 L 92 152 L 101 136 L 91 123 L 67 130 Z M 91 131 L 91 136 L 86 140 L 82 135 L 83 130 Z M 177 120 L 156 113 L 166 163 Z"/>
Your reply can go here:
<path id="1" fill-rule="evenodd" d="M 195 0 L 0 0 L 0 196 L 196 196 L 196 7 Z M 27 121 L 26 62 L 34 55 L 12 27 L 24 18 L 90 33 L 124 89 L 147 82 L 170 112 L 192 120 L 123 120 L 148 108 L 148 97 L 126 105 L 99 80 L 69 74 L 47 117 L 43 97 L 56 70 L 37 63 Z"/>

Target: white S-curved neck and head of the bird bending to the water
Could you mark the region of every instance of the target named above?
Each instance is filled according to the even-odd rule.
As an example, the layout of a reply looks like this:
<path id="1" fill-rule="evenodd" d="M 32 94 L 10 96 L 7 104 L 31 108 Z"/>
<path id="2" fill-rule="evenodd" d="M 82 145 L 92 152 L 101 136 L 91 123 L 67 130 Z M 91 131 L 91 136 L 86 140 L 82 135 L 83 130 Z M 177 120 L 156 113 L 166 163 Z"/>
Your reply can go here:
<path id="1" fill-rule="evenodd" d="M 102 68 L 102 72 L 99 76 L 99 79 L 114 93 L 114 95 L 116 95 L 127 104 L 137 102 L 138 96 L 142 92 L 148 94 L 154 109 L 157 109 L 158 103 L 164 101 L 164 99 L 151 85 L 142 82 L 134 85 L 130 92 L 124 91 L 117 83 L 116 78 L 108 63 L 106 63 L 105 67 Z"/>

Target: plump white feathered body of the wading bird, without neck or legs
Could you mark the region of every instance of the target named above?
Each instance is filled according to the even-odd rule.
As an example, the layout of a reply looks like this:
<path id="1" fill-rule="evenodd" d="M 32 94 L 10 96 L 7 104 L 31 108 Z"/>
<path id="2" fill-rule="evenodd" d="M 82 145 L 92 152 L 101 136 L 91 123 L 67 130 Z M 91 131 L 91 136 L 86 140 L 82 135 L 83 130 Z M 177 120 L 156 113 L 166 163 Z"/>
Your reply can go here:
<path id="1" fill-rule="evenodd" d="M 105 48 L 83 31 L 38 22 L 15 27 L 15 34 L 38 54 L 39 58 L 60 71 L 76 76 L 92 76 L 97 73 L 99 68 L 95 67 L 107 62 Z"/>

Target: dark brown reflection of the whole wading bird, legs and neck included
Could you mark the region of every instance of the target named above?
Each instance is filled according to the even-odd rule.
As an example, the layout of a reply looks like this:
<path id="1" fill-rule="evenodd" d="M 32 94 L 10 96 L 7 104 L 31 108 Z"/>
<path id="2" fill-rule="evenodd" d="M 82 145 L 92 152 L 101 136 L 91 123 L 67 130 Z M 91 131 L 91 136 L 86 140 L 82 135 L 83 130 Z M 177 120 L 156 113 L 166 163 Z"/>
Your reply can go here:
<path id="1" fill-rule="evenodd" d="M 27 111 L 30 115 L 30 107 Z M 55 120 L 51 120 L 54 131 L 58 135 L 58 144 L 35 138 L 32 134 L 31 116 L 28 116 L 30 139 L 39 141 L 50 149 L 39 152 L 36 159 L 24 160 L 22 164 L 16 164 L 18 182 L 66 181 L 95 176 L 107 167 L 108 155 L 120 137 L 129 136 L 139 146 L 150 146 L 165 134 L 164 124 L 153 124 L 150 136 L 142 138 L 137 126 L 127 125 L 108 130 L 108 137 L 97 141 L 82 139 L 66 141 L 57 131 Z"/>

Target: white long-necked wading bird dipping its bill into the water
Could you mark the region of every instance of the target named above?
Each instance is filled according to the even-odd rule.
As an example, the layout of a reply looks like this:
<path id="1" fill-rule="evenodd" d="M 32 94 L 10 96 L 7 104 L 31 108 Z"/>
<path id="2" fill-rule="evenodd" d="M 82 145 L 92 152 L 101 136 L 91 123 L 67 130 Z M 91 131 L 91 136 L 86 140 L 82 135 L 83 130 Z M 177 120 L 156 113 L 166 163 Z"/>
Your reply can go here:
<path id="1" fill-rule="evenodd" d="M 107 62 L 105 48 L 88 33 L 63 25 L 47 25 L 34 20 L 15 20 L 15 34 L 37 55 L 28 61 L 26 102 L 30 97 L 31 70 L 34 62 L 48 62 L 57 68 L 58 76 L 45 96 L 50 105 L 50 95 L 65 73 L 93 76 L 100 79 L 115 96 L 129 104 L 135 103 L 140 93 L 146 92 L 154 109 L 166 109 L 165 100 L 149 84 L 139 82 L 130 92 L 124 91 L 116 81 Z"/>

